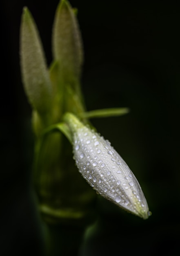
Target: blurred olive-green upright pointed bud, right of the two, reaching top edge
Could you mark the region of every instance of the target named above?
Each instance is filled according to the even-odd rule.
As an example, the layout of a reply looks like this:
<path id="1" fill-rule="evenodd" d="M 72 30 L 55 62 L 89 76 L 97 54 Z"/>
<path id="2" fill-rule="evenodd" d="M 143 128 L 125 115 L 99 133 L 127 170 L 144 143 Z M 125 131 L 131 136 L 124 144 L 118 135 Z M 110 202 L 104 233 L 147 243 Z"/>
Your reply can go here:
<path id="1" fill-rule="evenodd" d="M 83 62 L 82 39 L 75 11 L 66 0 L 60 1 L 56 10 L 52 43 L 53 57 L 60 64 L 64 81 L 76 83 Z"/>

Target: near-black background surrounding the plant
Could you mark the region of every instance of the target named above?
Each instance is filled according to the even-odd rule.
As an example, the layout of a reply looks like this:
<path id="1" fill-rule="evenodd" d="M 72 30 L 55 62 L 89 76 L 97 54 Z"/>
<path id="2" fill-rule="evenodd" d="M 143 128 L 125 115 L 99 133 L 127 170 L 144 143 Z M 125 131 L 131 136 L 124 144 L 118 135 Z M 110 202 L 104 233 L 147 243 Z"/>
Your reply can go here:
<path id="1" fill-rule="evenodd" d="M 38 25 L 48 64 L 58 0 L 1 1 L 1 255 L 41 252 L 31 199 L 31 108 L 19 66 L 22 7 Z M 99 224 L 83 255 L 178 255 L 180 15 L 174 2 L 71 1 L 84 41 L 82 91 L 87 109 L 129 107 L 122 117 L 93 119 L 128 163 L 152 216 L 141 220 L 99 199 Z M 98 231 L 96 231 L 96 229 Z"/>

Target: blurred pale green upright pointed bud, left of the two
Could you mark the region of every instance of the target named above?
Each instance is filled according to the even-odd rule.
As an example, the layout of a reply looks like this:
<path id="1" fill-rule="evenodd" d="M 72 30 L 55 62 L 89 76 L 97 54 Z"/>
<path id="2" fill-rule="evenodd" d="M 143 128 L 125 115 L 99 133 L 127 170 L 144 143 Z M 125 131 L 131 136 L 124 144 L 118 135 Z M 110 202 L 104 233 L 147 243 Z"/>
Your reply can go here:
<path id="1" fill-rule="evenodd" d="M 20 26 L 20 64 L 29 102 L 41 115 L 47 114 L 52 103 L 51 82 L 38 29 L 27 7 Z"/>

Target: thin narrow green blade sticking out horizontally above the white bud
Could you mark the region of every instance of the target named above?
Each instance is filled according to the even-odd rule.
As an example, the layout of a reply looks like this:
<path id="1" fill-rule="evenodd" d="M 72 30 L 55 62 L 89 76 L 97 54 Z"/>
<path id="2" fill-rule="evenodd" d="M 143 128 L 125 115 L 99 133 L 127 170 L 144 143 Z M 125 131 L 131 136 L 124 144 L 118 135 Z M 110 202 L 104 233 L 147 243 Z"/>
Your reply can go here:
<path id="1" fill-rule="evenodd" d="M 78 114 L 80 118 L 114 117 L 129 113 L 129 108 L 104 108 Z"/>

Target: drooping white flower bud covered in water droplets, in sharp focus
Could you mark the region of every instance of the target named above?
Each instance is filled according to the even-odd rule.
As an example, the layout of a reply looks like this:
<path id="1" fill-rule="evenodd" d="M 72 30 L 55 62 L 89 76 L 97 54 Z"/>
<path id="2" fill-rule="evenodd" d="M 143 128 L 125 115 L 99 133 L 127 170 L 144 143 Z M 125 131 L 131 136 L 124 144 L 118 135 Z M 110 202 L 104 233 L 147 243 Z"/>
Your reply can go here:
<path id="1" fill-rule="evenodd" d="M 110 142 L 70 113 L 65 121 L 72 132 L 76 165 L 84 179 L 104 198 L 147 219 L 150 212 L 140 184 Z"/>

